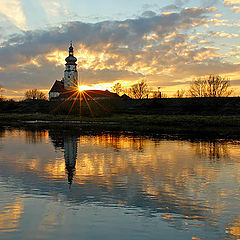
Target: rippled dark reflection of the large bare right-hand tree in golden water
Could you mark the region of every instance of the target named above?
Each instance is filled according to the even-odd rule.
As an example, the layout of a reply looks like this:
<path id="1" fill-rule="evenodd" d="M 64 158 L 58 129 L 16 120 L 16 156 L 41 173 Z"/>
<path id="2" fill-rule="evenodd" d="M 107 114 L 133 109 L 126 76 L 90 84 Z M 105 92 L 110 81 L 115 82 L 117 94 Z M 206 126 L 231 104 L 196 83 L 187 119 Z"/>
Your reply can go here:
<path id="1" fill-rule="evenodd" d="M 229 157 L 228 146 L 224 142 L 199 142 L 192 146 L 198 156 L 208 157 L 210 160 Z"/>

